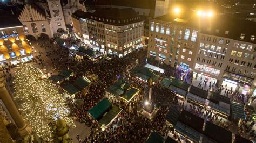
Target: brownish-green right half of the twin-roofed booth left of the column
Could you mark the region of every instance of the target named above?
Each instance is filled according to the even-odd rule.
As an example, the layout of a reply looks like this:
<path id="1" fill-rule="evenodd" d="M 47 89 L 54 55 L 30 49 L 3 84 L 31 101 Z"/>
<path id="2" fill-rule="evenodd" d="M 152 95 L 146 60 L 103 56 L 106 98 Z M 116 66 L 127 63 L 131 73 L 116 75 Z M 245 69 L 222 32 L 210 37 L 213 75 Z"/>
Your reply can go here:
<path id="1" fill-rule="evenodd" d="M 99 120 L 99 124 L 104 126 L 109 125 L 112 120 L 122 111 L 122 109 L 118 108 L 117 106 L 113 106 L 113 108 L 107 112 L 107 114 Z"/>

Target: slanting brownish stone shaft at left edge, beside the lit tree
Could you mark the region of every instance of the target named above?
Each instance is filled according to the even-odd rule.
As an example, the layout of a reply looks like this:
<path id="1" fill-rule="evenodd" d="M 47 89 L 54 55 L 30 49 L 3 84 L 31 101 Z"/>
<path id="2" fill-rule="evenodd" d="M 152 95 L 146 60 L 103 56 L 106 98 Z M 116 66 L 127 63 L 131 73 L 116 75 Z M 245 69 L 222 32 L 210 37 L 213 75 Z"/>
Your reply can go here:
<path id="1" fill-rule="evenodd" d="M 12 101 L 8 90 L 5 88 L 5 78 L 2 76 L 2 74 L 0 74 L 0 93 L 0 99 L 2 99 L 12 119 L 14 119 L 21 137 L 25 137 L 25 135 L 30 134 L 32 132 L 32 128 L 25 123 L 16 105 L 14 104 L 14 101 Z"/>

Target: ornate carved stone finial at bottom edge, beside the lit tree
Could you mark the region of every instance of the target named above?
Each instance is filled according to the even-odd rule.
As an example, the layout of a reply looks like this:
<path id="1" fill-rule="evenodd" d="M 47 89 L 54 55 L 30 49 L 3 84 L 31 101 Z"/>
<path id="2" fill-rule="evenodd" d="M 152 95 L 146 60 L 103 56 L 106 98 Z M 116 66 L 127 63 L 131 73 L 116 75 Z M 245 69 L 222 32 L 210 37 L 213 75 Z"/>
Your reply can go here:
<path id="1" fill-rule="evenodd" d="M 53 133 L 52 133 L 53 141 L 63 142 L 63 143 L 72 142 L 68 132 L 69 132 L 69 126 L 66 124 L 66 121 L 58 117 L 57 123 L 53 125 Z"/>

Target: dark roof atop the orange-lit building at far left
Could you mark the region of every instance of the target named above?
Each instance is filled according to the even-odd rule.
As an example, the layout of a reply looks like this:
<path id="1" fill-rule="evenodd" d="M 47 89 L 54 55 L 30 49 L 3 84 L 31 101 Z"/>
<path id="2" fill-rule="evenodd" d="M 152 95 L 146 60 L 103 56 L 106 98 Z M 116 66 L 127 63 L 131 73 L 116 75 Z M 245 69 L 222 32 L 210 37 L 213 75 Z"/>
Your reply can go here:
<path id="1" fill-rule="evenodd" d="M 15 15 L 12 15 L 8 11 L 4 10 L 0 10 L 0 22 L 0 28 L 22 26 L 22 23 L 19 22 L 18 18 Z"/>

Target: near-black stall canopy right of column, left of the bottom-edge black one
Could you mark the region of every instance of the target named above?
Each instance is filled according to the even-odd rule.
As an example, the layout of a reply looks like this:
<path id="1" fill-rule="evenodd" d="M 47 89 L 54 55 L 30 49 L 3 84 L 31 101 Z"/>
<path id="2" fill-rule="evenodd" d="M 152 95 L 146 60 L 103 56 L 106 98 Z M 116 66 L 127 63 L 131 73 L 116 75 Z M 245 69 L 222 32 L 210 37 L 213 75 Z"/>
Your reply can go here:
<path id="1" fill-rule="evenodd" d="M 183 110 L 178 120 L 200 133 L 203 132 L 204 119 L 194 115 L 193 113 Z"/>

